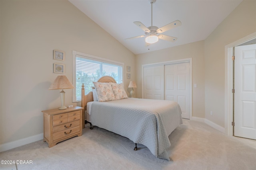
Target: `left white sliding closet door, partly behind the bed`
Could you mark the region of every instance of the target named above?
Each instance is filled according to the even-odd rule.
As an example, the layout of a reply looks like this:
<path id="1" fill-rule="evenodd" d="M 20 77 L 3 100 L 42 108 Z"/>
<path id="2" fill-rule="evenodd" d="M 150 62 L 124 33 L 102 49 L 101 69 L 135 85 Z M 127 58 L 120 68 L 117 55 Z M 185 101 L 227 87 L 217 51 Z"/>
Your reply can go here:
<path id="1" fill-rule="evenodd" d="M 164 65 L 143 68 L 143 98 L 164 100 Z"/>

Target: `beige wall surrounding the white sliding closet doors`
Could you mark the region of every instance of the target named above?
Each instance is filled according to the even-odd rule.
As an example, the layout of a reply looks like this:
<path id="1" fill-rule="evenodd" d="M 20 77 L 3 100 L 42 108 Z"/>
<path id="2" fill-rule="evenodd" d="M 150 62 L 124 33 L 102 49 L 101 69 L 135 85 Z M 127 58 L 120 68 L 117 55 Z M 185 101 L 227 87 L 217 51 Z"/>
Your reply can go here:
<path id="1" fill-rule="evenodd" d="M 137 97 L 142 97 L 142 65 L 192 58 L 192 116 L 204 118 L 204 41 L 136 55 Z"/>

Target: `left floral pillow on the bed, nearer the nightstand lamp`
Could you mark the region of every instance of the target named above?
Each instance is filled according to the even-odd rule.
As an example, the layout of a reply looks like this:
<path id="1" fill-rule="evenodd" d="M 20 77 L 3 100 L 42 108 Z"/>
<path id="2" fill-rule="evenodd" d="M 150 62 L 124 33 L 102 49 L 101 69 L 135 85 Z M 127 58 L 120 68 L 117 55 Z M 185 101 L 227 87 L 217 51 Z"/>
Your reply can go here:
<path id="1" fill-rule="evenodd" d="M 93 82 L 99 102 L 116 100 L 110 83 Z"/>

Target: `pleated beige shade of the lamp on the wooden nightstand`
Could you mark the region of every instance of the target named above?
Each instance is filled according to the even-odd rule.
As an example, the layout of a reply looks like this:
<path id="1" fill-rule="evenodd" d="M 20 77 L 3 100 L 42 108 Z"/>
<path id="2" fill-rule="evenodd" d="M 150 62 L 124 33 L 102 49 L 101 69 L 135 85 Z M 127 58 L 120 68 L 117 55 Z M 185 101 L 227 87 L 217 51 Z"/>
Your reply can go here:
<path id="1" fill-rule="evenodd" d="M 57 76 L 48 90 L 74 88 L 66 76 Z"/>

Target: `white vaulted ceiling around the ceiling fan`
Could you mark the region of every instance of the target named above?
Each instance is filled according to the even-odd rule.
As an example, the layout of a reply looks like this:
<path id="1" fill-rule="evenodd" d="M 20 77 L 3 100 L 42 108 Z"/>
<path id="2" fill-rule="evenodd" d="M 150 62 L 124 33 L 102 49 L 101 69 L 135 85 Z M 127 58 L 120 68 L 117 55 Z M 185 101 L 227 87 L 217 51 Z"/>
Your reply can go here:
<path id="1" fill-rule="evenodd" d="M 177 41 L 159 40 L 146 46 L 145 35 L 135 25 L 140 21 L 151 26 L 149 0 L 69 0 L 86 16 L 134 54 L 147 53 L 177 45 L 204 40 L 242 2 L 242 0 L 156 0 L 153 4 L 153 25 L 162 27 L 180 20 L 182 25 L 162 34 L 178 37 Z M 95 35 L 97 36 L 97 35 Z"/>

